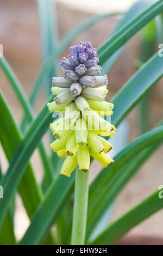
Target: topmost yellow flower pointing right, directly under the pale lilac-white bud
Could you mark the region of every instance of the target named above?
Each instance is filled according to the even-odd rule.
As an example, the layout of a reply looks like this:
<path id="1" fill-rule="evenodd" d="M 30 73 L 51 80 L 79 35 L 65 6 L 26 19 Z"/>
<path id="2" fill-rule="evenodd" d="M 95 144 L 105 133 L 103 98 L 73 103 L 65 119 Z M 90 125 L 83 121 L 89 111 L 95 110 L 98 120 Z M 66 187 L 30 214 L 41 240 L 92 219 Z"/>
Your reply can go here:
<path id="1" fill-rule="evenodd" d="M 107 112 L 107 111 L 112 111 L 112 108 L 114 108 L 114 105 L 107 101 L 95 101 L 95 100 L 87 99 L 87 102 L 89 103 L 90 108 L 93 108 L 96 111 L 106 111 Z"/>

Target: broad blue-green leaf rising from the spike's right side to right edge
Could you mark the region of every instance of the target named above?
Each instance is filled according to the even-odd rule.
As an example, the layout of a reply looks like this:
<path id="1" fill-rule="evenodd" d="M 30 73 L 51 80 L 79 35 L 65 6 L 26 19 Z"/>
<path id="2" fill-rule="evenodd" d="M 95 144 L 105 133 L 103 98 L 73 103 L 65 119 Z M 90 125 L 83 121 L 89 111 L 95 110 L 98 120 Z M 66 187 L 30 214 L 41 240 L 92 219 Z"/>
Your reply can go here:
<path id="1" fill-rule="evenodd" d="M 163 75 L 162 58 L 156 53 L 124 84 L 112 99 L 114 111 L 111 123 L 120 124 L 129 111 Z"/>

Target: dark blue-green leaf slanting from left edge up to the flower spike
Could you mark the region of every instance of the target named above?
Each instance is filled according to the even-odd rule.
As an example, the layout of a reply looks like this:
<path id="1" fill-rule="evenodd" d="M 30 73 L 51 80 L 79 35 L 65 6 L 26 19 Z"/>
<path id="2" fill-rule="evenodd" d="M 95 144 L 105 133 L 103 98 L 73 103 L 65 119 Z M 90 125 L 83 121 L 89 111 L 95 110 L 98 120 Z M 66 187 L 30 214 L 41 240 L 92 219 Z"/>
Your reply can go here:
<path id="1" fill-rule="evenodd" d="M 1 100 L 2 96 L 1 96 Z M 7 104 L 5 104 L 7 106 Z M 5 111 L 3 112 L 3 118 L 7 118 L 8 115 L 5 115 Z M 9 120 L 7 118 L 7 120 Z M 28 165 L 28 161 L 30 156 L 32 155 L 34 149 L 37 147 L 37 145 L 40 142 L 40 139 L 42 138 L 43 134 L 47 130 L 50 120 L 52 120 L 51 114 L 48 113 L 47 106 L 45 106 L 41 114 L 38 115 L 35 121 L 33 121 L 32 125 L 30 126 L 29 131 L 26 133 L 22 141 L 20 142 L 19 146 L 17 147 L 14 156 L 12 157 L 10 161 L 10 166 L 8 169 L 7 174 L 5 175 L 4 181 L 3 181 L 3 187 L 4 187 L 4 199 L 0 201 L 0 208 L 1 208 L 1 219 L 0 219 L 0 227 L 3 222 L 4 215 L 7 211 L 8 204 L 10 202 L 11 197 L 15 193 L 15 190 L 17 188 L 18 183 L 20 182 L 26 168 Z M 8 132 L 11 132 L 9 122 L 6 122 L 8 124 Z M 1 134 L 7 132 L 7 130 L 3 130 Z M 14 127 L 14 132 L 16 133 L 16 127 Z M 13 136 L 12 136 L 13 137 Z M 4 146 L 5 150 L 8 151 L 9 144 L 5 143 L 7 138 L 4 138 Z M 16 142 L 18 141 L 18 135 L 17 137 L 13 137 L 13 140 L 15 140 L 15 143 L 12 143 L 12 147 L 16 145 Z M 19 140 L 20 141 L 20 140 Z M 30 180 L 30 179 L 29 179 Z M 26 185 L 26 184 L 25 184 Z M 30 185 L 29 185 L 30 187 Z M 32 196 L 30 198 L 31 202 L 30 205 L 32 207 L 32 199 L 37 200 L 36 196 Z"/>

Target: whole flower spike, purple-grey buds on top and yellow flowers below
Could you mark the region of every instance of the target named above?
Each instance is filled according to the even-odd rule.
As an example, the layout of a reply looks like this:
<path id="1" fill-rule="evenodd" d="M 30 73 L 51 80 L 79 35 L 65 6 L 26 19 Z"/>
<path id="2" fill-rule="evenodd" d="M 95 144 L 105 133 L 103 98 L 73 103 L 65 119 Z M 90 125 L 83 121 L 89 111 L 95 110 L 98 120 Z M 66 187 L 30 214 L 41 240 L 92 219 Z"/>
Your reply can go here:
<path id="1" fill-rule="evenodd" d="M 116 129 L 100 116 L 111 115 L 114 105 L 105 101 L 108 78 L 100 76 L 98 62 L 91 42 L 80 41 L 60 61 L 63 77 L 52 78 L 55 97 L 47 106 L 51 113 L 60 111 L 64 117 L 50 124 L 56 137 L 50 146 L 59 157 L 66 157 L 60 174 L 68 177 L 77 164 L 87 172 L 90 155 L 104 167 L 114 162 L 108 155 L 112 145 L 102 136 L 112 137 Z"/>

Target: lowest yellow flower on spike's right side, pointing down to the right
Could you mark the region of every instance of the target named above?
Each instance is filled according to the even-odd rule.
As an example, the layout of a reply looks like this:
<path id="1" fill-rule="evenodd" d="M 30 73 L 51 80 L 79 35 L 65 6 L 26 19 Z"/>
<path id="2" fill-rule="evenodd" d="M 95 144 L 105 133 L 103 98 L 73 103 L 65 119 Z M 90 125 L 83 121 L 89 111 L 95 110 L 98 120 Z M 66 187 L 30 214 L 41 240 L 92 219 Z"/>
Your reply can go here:
<path id="1" fill-rule="evenodd" d="M 97 154 L 93 149 L 90 149 L 90 154 L 93 159 L 96 159 L 98 162 L 102 163 L 104 167 L 107 167 L 109 166 L 109 164 L 114 162 L 114 160 L 111 159 L 108 154 L 105 154 L 103 152 L 101 154 Z"/>

